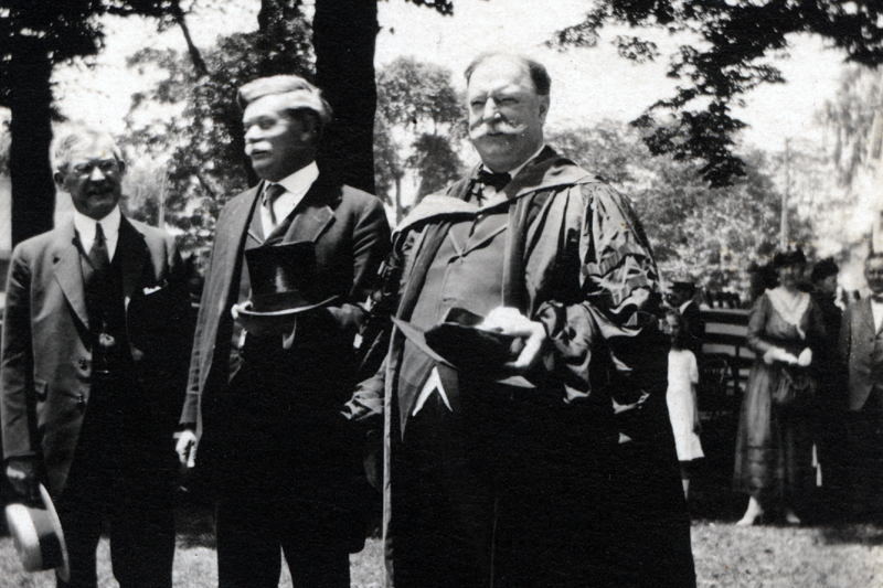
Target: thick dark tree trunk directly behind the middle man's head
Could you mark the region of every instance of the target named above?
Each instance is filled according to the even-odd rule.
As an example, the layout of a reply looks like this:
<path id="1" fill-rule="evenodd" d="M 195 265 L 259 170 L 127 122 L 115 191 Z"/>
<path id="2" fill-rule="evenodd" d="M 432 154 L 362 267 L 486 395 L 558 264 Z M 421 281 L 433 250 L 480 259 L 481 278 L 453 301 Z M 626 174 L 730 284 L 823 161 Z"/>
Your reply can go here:
<path id="1" fill-rule="evenodd" d="M 334 124 L 322 139 L 319 164 L 344 183 L 372 194 L 377 30 L 376 0 L 316 0 L 316 84 L 334 110 Z"/>

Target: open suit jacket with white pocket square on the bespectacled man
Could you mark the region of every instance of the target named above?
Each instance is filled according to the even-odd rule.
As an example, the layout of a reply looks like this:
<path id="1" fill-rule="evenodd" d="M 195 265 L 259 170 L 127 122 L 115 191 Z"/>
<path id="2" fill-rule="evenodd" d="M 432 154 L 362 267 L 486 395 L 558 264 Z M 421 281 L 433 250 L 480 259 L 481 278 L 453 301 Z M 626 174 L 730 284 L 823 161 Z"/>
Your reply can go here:
<path id="1" fill-rule="evenodd" d="M 66 482 L 92 387 L 88 313 L 75 238 L 71 221 L 15 247 L 3 318 L 3 453 L 42 457 L 53 494 Z M 187 377 L 182 354 L 187 356 L 190 342 L 181 256 L 173 237 L 124 216 L 114 263 L 123 271 L 132 375 L 149 399 L 143 416 L 150 430 L 171 439 L 172 407 L 180 406 Z"/>

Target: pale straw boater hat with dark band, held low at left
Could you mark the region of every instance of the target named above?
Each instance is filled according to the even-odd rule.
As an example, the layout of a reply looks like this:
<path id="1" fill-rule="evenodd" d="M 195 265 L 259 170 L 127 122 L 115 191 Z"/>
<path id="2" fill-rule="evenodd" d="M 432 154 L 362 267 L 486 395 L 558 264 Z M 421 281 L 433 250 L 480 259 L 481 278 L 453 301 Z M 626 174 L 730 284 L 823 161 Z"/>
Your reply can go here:
<path id="1" fill-rule="evenodd" d="M 71 563 L 62 523 L 43 484 L 40 484 L 40 496 L 42 505 L 31 506 L 20 502 L 8 504 L 7 526 L 25 571 L 55 568 L 58 576 L 67 581 Z"/>

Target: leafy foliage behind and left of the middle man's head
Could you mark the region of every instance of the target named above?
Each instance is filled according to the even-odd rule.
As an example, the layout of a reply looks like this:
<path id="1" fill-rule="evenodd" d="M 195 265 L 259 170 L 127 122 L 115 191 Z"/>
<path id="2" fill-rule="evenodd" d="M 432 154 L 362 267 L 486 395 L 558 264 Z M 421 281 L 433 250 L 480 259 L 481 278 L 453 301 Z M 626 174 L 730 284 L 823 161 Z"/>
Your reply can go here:
<path id="1" fill-rule="evenodd" d="M 166 222 L 183 232 L 184 248 L 205 248 L 223 204 L 255 183 L 245 157 L 240 86 L 262 76 L 297 74 L 311 77 L 310 30 L 299 2 L 274 3 L 277 18 L 251 33 L 219 38 L 202 52 L 204 73 L 175 51 L 143 49 L 130 67 L 158 67 L 164 79 L 148 93 L 135 94 L 125 141 L 151 156 L 171 153 L 168 164 Z M 152 105 L 172 105 L 180 116 L 162 114 L 145 124 Z"/>

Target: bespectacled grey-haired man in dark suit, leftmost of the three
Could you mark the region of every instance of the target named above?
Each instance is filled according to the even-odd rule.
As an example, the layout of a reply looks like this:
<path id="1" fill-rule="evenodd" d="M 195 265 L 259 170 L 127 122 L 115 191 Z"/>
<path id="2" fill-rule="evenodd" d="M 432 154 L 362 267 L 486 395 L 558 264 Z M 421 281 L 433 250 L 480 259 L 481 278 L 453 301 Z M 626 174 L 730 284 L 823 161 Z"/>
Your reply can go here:
<path id="1" fill-rule="evenodd" d="M 46 482 L 71 558 L 96 586 L 109 522 L 121 587 L 170 587 L 177 425 L 190 346 L 187 276 L 174 239 L 120 214 L 125 163 L 92 129 L 55 142 L 73 222 L 12 254 L 2 343 L 7 475 L 24 500 Z"/>

